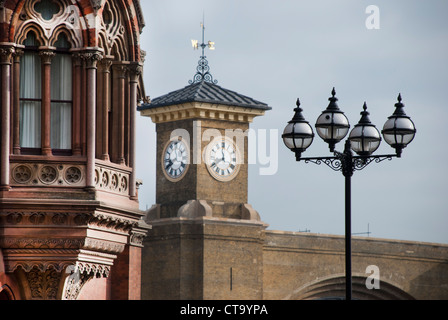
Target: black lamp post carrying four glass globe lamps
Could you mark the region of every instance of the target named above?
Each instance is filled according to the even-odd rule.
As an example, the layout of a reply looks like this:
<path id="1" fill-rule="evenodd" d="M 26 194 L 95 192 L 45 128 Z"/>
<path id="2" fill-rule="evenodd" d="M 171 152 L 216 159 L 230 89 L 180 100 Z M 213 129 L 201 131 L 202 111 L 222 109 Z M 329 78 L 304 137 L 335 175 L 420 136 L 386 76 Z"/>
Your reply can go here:
<path id="1" fill-rule="evenodd" d="M 303 158 L 302 153 L 311 145 L 314 132 L 308 121 L 302 115 L 303 109 L 297 99 L 297 108 L 294 116 L 283 131 L 283 142 L 286 147 L 295 153 L 296 161 L 325 164 L 334 171 L 341 171 L 345 177 L 345 278 L 346 300 L 352 298 L 352 271 L 351 271 L 351 177 L 357 170 L 362 170 L 371 162 L 379 163 L 383 160 L 400 158 L 402 150 L 414 139 L 416 129 L 411 118 L 408 117 L 401 103 L 401 94 L 398 95 L 398 103 L 395 104 L 395 112 L 388 118 L 383 126 L 384 140 L 395 149 L 395 154 L 372 155 L 381 143 L 378 129 L 370 122 L 367 105 L 364 102 L 361 119 L 352 129 L 345 141 L 344 151 L 335 151 L 335 145 L 345 138 L 350 124 L 347 117 L 337 105 L 336 91 L 333 88 L 332 97 L 328 107 L 322 112 L 316 121 L 318 135 L 328 143 L 332 157 Z M 353 155 L 352 150 L 357 154 Z"/>

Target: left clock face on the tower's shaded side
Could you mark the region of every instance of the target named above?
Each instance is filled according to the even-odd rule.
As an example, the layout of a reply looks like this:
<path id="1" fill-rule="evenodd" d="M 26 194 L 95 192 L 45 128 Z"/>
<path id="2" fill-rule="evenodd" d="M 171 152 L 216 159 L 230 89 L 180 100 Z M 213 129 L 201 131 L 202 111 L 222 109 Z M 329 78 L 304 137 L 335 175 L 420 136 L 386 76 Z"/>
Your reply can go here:
<path id="1" fill-rule="evenodd" d="M 188 168 L 188 148 L 182 140 L 170 141 L 162 156 L 165 176 L 171 180 L 180 180 Z"/>

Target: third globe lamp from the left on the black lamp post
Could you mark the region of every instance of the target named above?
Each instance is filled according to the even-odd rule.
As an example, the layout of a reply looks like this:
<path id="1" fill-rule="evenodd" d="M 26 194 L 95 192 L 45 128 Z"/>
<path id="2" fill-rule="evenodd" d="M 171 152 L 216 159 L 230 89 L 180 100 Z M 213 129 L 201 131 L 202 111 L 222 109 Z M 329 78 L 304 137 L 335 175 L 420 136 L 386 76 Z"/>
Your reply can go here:
<path id="1" fill-rule="evenodd" d="M 381 136 L 378 129 L 370 122 L 367 106 L 364 102 L 361 119 L 350 132 L 351 148 L 360 156 L 369 156 L 380 146 Z"/>

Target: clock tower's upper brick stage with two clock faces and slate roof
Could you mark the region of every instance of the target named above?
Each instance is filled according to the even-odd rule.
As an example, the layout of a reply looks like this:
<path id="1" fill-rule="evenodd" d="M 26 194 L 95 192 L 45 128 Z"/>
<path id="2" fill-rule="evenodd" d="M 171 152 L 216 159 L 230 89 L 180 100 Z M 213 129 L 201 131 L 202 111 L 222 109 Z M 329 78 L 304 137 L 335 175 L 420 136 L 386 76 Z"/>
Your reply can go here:
<path id="1" fill-rule="evenodd" d="M 247 130 L 268 109 L 206 81 L 142 105 L 141 115 L 156 123 L 157 215 L 196 214 L 192 201 L 214 217 L 256 214 L 247 204 Z"/>

